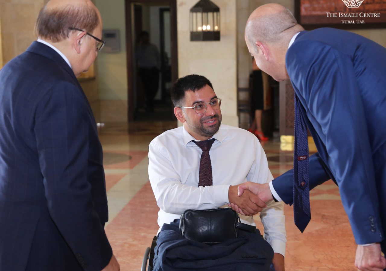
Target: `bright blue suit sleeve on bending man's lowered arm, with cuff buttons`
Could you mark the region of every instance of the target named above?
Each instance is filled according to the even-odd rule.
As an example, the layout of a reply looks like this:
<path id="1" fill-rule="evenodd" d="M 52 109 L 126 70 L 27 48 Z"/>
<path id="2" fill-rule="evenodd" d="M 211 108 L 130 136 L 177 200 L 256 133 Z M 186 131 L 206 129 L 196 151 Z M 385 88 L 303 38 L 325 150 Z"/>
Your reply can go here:
<path id="1" fill-rule="evenodd" d="M 366 114 L 352 59 L 312 40 L 295 42 L 286 65 L 296 94 L 328 154 L 328 167 L 357 244 L 383 239 Z"/>

